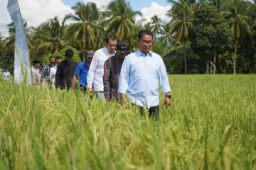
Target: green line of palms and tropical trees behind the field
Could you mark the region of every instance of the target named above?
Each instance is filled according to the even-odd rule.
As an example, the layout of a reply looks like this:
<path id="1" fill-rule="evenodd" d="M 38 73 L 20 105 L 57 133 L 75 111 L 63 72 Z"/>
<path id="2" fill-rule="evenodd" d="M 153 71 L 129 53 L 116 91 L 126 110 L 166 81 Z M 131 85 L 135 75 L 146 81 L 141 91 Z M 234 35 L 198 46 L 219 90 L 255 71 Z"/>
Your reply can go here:
<path id="1" fill-rule="evenodd" d="M 113 0 L 104 9 L 89 2 L 73 6 L 74 14 L 63 21 L 55 16 L 37 28 L 24 21 L 31 60 L 47 62 L 49 56 L 63 54 L 67 48 L 76 52 L 97 50 L 105 45 L 106 35 L 117 35 L 137 49 L 137 33 L 148 29 L 154 34 L 153 51 L 164 57 L 174 74 L 255 73 L 256 5 L 242 0 L 167 0 L 172 8 L 166 13 L 170 22 L 158 16 L 151 21 L 142 16 L 129 1 Z M 14 67 L 14 23 L 9 36 L 0 35 L 0 67 Z"/>

